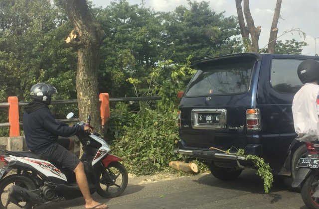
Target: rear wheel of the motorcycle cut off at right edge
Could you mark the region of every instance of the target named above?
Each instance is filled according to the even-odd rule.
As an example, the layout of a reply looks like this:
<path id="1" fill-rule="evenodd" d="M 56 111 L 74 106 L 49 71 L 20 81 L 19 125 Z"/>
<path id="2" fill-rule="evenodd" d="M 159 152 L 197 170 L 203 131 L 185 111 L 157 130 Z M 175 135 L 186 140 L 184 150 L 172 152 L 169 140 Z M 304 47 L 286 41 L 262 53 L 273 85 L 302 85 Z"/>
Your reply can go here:
<path id="1" fill-rule="evenodd" d="M 319 209 L 319 198 L 313 194 L 319 189 L 319 172 L 311 173 L 301 188 L 301 197 L 309 209 Z"/>

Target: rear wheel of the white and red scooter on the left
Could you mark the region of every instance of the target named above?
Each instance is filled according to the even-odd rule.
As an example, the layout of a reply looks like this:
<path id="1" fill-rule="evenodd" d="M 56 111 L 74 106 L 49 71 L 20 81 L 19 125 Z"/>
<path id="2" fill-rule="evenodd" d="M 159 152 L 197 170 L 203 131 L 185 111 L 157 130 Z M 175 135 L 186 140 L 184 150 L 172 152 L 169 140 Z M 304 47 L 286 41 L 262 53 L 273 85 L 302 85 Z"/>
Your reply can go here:
<path id="1" fill-rule="evenodd" d="M 10 175 L 10 176 L 5 177 L 4 179 L 2 179 L 0 181 L 0 209 L 12 208 L 12 207 L 16 206 L 13 203 L 8 203 L 8 206 L 5 207 L 5 205 L 7 204 L 8 196 L 9 196 L 8 189 L 12 185 L 17 185 L 17 186 L 22 187 L 26 190 L 35 190 L 36 189 L 36 185 L 34 184 L 34 182 L 26 176 L 14 174 L 14 175 Z M 20 208 L 23 207 L 25 209 L 31 209 L 33 206 L 32 204 L 26 203 L 26 202 L 20 202 L 18 205 L 20 206 Z"/>

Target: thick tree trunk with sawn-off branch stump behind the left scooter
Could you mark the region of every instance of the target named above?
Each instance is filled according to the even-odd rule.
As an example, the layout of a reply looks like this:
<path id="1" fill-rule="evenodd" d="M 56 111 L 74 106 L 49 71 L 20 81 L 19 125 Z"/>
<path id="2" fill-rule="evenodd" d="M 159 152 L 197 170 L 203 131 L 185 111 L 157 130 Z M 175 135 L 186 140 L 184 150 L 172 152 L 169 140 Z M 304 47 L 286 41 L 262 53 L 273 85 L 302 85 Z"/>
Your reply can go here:
<path id="1" fill-rule="evenodd" d="M 102 132 L 99 114 L 98 50 L 105 32 L 87 6 L 86 0 L 64 0 L 68 17 L 74 29 L 66 39 L 67 44 L 78 51 L 76 92 L 79 119 L 86 121 L 91 115 L 91 124 Z"/>

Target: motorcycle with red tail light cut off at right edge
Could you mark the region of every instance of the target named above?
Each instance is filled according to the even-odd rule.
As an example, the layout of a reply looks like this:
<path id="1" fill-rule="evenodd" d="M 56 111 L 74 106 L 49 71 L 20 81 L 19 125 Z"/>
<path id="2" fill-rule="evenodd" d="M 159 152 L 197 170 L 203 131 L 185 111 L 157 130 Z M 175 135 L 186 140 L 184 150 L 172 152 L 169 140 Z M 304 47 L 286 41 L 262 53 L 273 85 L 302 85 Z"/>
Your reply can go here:
<path id="1" fill-rule="evenodd" d="M 308 155 L 298 161 L 298 173 L 292 188 L 301 190 L 302 199 L 309 209 L 319 209 L 319 141 L 304 142 Z"/>

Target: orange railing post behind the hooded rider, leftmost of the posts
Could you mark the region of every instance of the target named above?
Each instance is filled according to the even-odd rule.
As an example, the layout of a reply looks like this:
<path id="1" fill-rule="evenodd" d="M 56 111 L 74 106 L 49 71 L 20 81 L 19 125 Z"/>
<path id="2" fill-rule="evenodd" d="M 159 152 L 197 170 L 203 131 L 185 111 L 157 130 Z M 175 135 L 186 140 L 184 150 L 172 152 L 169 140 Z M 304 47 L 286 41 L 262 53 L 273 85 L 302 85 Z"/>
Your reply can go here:
<path id="1" fill-rule="evenodd" d="M 8 97 L 9 103 L 9 123 L 10 132 L 9 136 L 19 136 L 20 126 L 19 126 L 19 104 L 17 97 Z"/>

